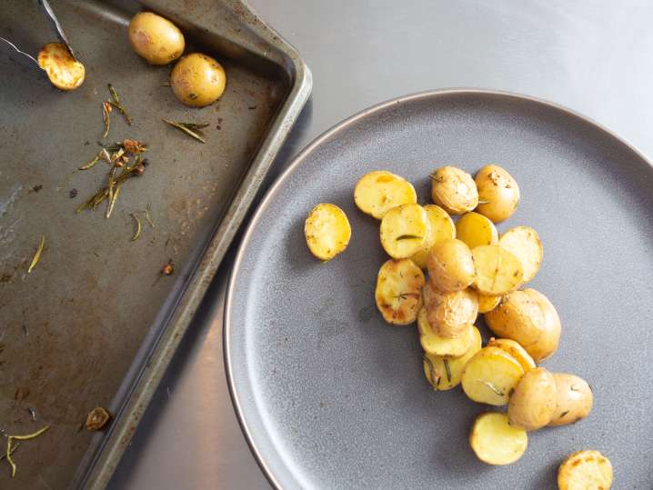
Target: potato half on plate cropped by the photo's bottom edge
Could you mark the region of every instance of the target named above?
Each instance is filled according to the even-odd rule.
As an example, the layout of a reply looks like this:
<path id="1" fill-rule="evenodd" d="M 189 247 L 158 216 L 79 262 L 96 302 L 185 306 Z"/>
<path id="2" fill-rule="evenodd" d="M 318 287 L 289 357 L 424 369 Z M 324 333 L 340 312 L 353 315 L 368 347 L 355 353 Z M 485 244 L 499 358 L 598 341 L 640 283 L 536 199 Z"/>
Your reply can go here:
<path id="1" fill-rule="evenodd" d="M 559 490 L 609 490 L 612 465 L 598 451 L 578 451 L 558 468 Z"/>

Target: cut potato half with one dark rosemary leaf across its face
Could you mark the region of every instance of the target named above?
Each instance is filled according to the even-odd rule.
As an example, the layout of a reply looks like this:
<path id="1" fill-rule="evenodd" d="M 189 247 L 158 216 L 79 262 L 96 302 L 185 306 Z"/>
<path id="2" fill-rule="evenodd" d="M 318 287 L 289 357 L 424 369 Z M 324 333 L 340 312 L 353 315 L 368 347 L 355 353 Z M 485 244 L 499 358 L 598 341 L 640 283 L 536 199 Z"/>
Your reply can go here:
<path id="1" fill-rule="evenodd" d="M 381 220 L 381 245 L 392 258 L 407 258 L 424 247 L 430 233 L 427 212 L 421 205 L 398 205 Z"/>

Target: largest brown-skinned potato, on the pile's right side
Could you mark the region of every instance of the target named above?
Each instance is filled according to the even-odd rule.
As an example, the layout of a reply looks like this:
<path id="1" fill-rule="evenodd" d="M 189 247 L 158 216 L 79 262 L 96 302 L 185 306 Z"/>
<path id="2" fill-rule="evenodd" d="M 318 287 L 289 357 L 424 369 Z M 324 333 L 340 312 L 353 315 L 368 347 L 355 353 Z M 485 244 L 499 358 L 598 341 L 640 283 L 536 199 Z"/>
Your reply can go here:
<path id="1" fill-rule="evenodd" d="M 511 338 L 538 363 L 558 349 L 560 318 L 547 296 L 535 289 L 515 291 L 485 314 L 487 326 L 500 337 Z"/>

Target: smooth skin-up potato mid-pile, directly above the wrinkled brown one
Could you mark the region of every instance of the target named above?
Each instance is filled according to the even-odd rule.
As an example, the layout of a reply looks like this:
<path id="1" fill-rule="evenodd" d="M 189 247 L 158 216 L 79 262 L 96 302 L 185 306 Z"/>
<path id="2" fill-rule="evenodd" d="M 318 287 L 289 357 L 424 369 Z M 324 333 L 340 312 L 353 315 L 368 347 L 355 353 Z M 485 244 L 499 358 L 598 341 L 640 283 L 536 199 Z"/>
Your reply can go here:
<path id="1" fill-rule="evenodd" d="M 442 240 L 428 253 L 428 275 L 440 291 L 460 291 L 472 284 L 476 270 L 472 252 L 456 238 Z"/>

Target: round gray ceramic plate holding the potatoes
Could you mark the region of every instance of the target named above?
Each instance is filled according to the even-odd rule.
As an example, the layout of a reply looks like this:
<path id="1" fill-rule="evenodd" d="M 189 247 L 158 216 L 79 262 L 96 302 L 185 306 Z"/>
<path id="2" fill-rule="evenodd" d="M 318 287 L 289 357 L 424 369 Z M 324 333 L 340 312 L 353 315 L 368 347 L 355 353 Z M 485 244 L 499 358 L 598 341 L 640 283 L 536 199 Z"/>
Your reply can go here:
<path id="1" fill-rule="evenodd" d="M 532 225 L 544 245 L 534 287 L 562 318 L 549 369 L 588 379 L 588 419 L 531 434 L 514 465 L 480 463 L 467 444 L 493 407 L 460 389 L 434 393 L 415 326 L 374 305 L 387 259 L 378 223 L 354 205 L 360 175 L 388 169 L 429 198 L 438 165 L 489 162 L 522 200 L 499 231 Z M 409 95 L 337 125 L 297 156 L 252 219 L 226 305 L 226 364 L 246 437 L 273 485 L 323 488 L 556 488 L 565 455 L 596 448 L 615 488 L 651 488 L 653 169 L 615 135 L 561 107 L 484 91 Z M 353 235 L 322 264 L 303 235 L 308 211 L 342 207 Z M 483 331 L 487 334 L 485 327 Z"/>

